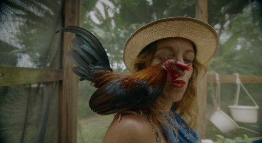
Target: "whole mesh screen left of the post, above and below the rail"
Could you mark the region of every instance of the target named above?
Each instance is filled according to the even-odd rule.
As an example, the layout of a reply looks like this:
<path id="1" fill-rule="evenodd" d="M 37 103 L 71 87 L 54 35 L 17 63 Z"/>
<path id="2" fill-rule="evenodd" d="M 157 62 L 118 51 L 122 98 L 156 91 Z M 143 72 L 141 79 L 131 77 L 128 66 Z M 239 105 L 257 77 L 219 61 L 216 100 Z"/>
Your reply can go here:
<path id="1" fill-rule="evenodd" d="M 59 69 L 62 8 L 63 1 L 1 1 L 0 65 Z M 0 142 L 58 141 L 58 81 L 0 87 Z"/>

